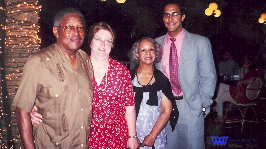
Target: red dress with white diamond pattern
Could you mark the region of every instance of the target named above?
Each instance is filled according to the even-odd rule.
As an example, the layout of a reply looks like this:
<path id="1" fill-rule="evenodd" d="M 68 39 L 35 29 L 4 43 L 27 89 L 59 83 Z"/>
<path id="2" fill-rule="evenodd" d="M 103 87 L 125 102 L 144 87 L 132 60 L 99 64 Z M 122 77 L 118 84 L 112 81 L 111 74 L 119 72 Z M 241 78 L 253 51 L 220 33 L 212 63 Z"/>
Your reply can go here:
<path id="1" fill-rule="evenodd" d="M 125 106 L 135 104 L 130 72 L 126 66 L 109 57 L 108 86 L 106 91 L 102 91 L 105 83 L 106 74 L 99 86 L 93 77 L 90 149 L 125 149 L 128 138 Z"/>

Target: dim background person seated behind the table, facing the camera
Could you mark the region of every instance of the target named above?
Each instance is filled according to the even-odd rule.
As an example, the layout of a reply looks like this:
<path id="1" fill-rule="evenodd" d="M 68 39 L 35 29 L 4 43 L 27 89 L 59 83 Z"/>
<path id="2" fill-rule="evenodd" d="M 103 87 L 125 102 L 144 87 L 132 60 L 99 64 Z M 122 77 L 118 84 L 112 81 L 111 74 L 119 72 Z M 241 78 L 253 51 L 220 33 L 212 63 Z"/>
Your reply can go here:
<path id="1" fill-rule="evenodd" d="M 237 74 L 238 64 L 232 59 L 233 55 L 229 50 L 226 50 L 223 54 L 223 61 L 218 64 L 219 66 L 219 74 L 229 74 L 234 73 Z"/>

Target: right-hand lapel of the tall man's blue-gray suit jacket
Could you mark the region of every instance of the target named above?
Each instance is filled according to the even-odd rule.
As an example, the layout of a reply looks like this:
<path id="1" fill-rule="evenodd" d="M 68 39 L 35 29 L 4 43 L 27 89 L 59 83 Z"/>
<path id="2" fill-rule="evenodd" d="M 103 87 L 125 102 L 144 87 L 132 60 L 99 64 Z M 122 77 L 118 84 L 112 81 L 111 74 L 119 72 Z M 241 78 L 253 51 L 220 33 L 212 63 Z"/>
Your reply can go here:
<path id="1" fill-rule="evenodd" d="M 191 52 L 192 48 L 191 48 L 190 41 L 191 41 L 190 33 L 185 30 L 185 37 L 184 37 L 184 40 L 183 40 L 183 44 L 182 44 L 182 47 L 181 47 L 181 53 L 180 53 L 180 57 L 179 57 L 180 59 L 179 59 L 179 68 L 178 68 L 179 70 L 178 71 L 181 70 L 184 62 L 187 59 L 187 56 Z"/>

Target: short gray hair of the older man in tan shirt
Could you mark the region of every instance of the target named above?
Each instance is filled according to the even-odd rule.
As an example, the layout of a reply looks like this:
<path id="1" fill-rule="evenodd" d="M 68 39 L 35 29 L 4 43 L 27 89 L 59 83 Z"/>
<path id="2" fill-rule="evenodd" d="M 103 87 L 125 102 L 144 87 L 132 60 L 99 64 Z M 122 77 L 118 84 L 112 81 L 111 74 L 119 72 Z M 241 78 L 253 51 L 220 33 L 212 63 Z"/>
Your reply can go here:
<path id="1" fill-rule="evenodd" d="M 53 26 L 59 26 L 59 23 L 62 21 L 63 17 L 67 14 L 72 14 L 72 13 L 78 14 L 80 16 L 82 20 L 82 24 L 85 27 L 86 23 L 85 23 L 85 18 L 83 14 L 75 8 L 64 8 L 64 9 L 59 10 L 53 18 Z"/>

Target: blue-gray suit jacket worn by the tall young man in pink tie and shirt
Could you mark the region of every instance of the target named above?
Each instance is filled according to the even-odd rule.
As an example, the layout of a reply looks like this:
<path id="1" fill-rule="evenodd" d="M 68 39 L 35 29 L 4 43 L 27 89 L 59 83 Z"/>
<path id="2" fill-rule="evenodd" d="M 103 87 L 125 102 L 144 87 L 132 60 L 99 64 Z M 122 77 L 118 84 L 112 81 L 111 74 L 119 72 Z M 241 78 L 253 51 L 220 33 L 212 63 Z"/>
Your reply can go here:
<path id="1" fill-rule="evenodd" d="M 164 47 L 166 37 L 167 34 L 155 40 Z M 162 62 L 156 64 L 156 67 L 163 72 Z M 178 77 L 184 93 L 184 100 L 192 114 L 199 117 L 202 113 L 202 105 L 209 111 L 209 107 L 213 103 L 211 98 L 216 85 L 216 71 L 208 38 L 185 30 Z"/>

